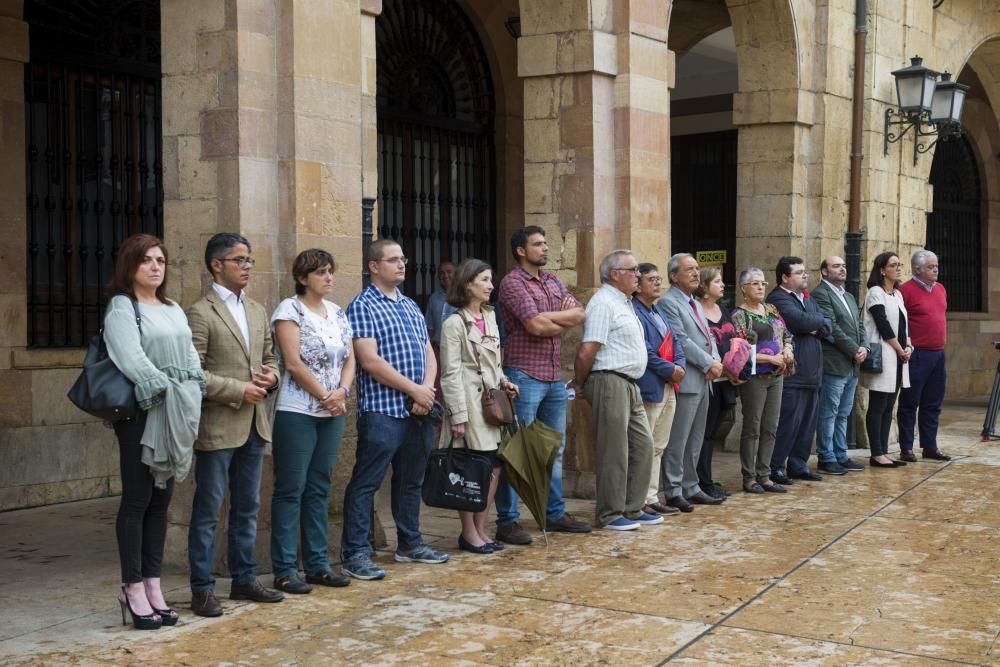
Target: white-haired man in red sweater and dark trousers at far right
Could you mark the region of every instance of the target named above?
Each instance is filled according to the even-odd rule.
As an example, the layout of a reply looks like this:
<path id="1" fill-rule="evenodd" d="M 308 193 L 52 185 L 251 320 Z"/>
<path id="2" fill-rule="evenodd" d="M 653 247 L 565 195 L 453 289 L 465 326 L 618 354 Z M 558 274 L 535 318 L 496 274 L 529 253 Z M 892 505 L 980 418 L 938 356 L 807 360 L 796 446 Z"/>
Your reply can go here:
<path id="1" fill-rule="evenodd" d="M 948 376 L 944 368 L 947 339 L 948 293 L 938 281 L 938 258 L 929 250 L 918 250 L 910 260 L 913 278 L 903 283 L 908 316 L 907 331 L 913 355 L 910 357 L 910 387 L 899 394 L 899 449 L 904 461 L 916 461 L 913 454 L 913 427 L 918 420 L 920 447 L 925 459 L 950 461 L 937 446 L 938 418 L 944 401 Z"/>

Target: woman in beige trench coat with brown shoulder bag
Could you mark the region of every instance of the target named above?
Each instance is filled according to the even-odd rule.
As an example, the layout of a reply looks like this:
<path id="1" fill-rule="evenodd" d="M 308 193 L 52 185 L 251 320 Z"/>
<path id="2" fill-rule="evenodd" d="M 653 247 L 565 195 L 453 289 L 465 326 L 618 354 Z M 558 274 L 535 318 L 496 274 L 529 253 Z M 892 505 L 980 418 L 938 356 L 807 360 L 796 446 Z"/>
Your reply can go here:
<path id="1" fill-rule="evenodd" d="M 503 375 L 500 336 L 496 315 L 487 305 L 493 292 L 493 271 L 478 259 L 459 264 L 448 290 L 448 303 L 458 308 L 441 327 L 441 389 L 445 416 L 440 446 L 468 447 L 493 461 L 486 508 L 482 512 L 459 512 L 462 533 L 458 548 L 476 554 L 503 549 L 486 533 L 486 518 L 500 477 L 500 428 L 483 419 L 482 393 L 500 388 L 509 396 L 517 387 Z"/>

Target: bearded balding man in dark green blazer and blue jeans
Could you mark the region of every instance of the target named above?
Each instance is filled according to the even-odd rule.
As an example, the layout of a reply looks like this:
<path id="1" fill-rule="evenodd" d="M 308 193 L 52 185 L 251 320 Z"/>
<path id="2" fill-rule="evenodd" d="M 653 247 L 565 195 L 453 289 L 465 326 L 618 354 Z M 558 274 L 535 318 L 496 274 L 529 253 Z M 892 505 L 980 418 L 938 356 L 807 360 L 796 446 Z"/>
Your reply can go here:
<path id="1" fill-rule="evenodd" d="M 841 257 L 827 257 L 819 265 L 823 279 L 810 293 L 823 314 L 833 322 L 833 333 L 823 345 L 823 386 L 820 390 L 816 456 L 819 470 L 827 475 L 844 475 L 865 467 L 847 456 L 847 420 L 854 407 L 858 370 L 868 356 L 865 328 L 858 302 L 844 289 L 847 263 Z"/>

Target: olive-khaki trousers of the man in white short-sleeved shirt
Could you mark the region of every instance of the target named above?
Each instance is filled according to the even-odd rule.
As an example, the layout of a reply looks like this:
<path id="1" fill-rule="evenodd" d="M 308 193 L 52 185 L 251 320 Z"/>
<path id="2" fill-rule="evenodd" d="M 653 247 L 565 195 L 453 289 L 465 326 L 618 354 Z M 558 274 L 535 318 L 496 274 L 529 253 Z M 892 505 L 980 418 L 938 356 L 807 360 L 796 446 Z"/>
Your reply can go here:
<path id="1" fill-rule="evenodd" d="M 596 450 L 598 527 L 642 513 L 653 458 L 642 396 L 634 382 L 611 373 L 591 373 L 583 385 L 591 407 Z"/>

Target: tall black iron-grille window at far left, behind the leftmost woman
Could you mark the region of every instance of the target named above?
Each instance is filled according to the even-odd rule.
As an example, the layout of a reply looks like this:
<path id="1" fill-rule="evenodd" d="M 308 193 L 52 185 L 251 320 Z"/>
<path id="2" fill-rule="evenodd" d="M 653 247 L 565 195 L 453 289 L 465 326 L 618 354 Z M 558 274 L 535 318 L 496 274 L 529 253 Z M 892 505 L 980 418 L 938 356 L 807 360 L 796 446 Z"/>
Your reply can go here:
<path id="1" fill-rule="evenodd" d="M 121 242 L 163 234 L 159 5 L 28 2 L 25 16 L 28 342 L 79 347 Z"/>

